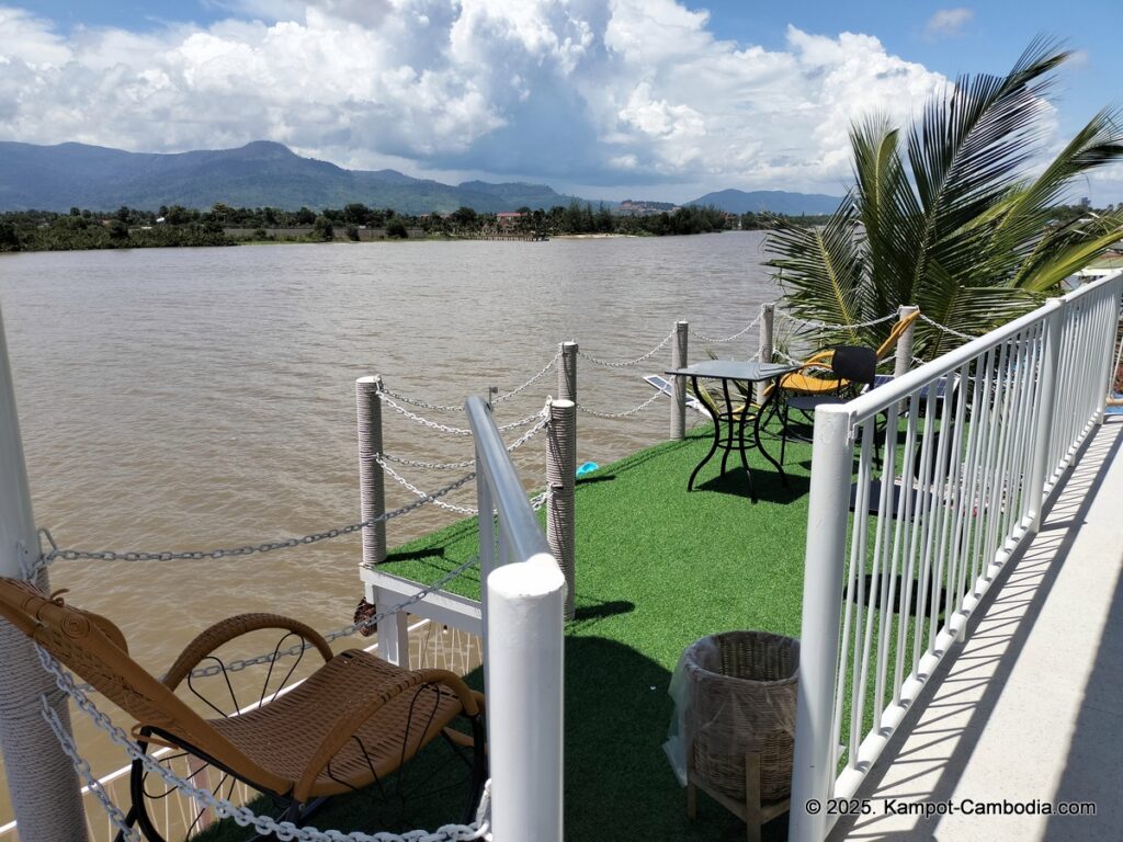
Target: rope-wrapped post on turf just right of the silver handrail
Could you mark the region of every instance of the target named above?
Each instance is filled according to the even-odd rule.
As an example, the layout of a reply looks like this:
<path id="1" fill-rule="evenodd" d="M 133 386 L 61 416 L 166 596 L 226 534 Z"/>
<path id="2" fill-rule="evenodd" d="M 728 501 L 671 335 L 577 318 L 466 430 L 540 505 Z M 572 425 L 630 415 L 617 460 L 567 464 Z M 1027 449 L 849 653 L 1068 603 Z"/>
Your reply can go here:
<path id="1" fill-rule="evenodd" d="M 574 619 L 574 574 L 576 560 L 576 506 L 574 486 L 577 482 L 577 404 L 573 401 L 550 401 L 550 423 L 547 428 L 546 540 L 554 558 L 565 574 L 565 619 Z"/>

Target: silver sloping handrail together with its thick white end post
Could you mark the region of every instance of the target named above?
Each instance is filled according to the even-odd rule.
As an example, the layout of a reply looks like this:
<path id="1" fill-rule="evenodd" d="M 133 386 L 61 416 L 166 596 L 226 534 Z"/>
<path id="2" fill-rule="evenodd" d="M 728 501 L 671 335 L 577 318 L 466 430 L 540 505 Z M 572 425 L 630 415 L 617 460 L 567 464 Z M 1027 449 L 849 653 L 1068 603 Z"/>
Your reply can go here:
<path id="1" fill-rule="evenodd" d="M 465 408 L 476 447 L 492 833 L 562 842 L 566 583 L 491 409 Z M 494 512 L 494 519 L 489 513 Z"/>

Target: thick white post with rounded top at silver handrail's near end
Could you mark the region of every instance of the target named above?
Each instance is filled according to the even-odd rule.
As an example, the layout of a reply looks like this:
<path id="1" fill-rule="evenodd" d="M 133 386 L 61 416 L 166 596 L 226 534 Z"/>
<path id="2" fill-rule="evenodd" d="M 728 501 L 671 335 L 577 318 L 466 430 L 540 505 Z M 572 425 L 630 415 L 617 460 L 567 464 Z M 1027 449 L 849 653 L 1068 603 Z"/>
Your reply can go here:
<path id="1" fill-rule="evenodd" d="M 565 578 L 548 553 L 487 577 L 487 732 L 496 842 L 562 842 Z"/>

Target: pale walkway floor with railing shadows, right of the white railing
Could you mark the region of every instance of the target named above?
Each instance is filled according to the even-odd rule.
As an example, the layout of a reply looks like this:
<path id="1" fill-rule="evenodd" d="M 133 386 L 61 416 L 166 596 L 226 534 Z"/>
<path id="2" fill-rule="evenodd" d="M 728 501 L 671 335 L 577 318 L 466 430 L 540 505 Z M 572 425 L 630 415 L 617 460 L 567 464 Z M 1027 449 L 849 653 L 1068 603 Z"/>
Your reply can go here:
<path id="1" fill-rule="evenodd" d="M 1121 451 L 1123 419 L 1110 418 L 870 772 L 859 796 L 871 814 L 832 841 L 1123 840 Z M 965 799 L 1094 802 L 1097 814 L 964 815 Z M 957 814 L 886 814 L 922 802 Z"/>

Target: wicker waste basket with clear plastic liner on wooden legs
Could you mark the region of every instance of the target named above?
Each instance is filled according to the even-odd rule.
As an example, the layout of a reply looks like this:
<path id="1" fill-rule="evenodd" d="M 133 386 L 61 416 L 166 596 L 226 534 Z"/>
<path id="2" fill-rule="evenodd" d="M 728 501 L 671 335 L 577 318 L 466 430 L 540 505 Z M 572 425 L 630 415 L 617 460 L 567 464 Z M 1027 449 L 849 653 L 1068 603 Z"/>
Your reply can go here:
<path id="1" fill-rule="evenodd" d="M 730 809 L 741 807 L 757 770 L 759 790 L 748 796 L 757 811 L 788 797 L 798 666 L 797 640 L 761 631 L 714 634 L 683 652 L 670 680 L 676 710 L 665 749 L 691 800 L 696 785 Z"/>

